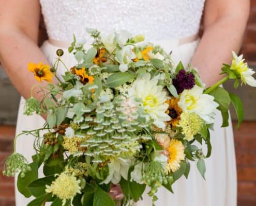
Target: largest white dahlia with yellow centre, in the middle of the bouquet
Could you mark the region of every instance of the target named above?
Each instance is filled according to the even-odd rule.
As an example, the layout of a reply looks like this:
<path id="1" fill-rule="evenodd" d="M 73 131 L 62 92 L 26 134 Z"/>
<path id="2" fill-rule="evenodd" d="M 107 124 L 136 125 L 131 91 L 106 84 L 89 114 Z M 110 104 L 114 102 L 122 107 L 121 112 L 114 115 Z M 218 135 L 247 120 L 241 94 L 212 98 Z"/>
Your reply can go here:
<path id="1" fill-rule="evenodd" d="M 163 87 L 157 85 L 157 82 L 157 77 L 150 79 L 150 74 L 146 73 L 143 78 L 138 78 L 133 82 L 128 96 L 140 98 L 141 106 L 154 119 L 154 125 L 164 129 L 164 122 L 170 121 L 170 116 L 165 113 L 168 109 L 168 104 L 165 103 L 168 97 Z"/>

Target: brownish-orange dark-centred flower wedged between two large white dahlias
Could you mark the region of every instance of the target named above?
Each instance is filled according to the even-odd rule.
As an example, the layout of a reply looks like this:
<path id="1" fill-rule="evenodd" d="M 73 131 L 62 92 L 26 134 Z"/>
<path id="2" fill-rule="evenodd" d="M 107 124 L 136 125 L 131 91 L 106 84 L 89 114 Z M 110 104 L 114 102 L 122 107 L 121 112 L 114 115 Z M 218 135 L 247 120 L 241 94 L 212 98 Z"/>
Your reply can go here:
<path id="1" fill-rule="evenodd" d="M 178 106 L 178 98 L 172 97 L 168 99 L 166 102 L 169 105 L 166 113 L 171 117 L 171 121 L 167 122 L 167 124 L 176 127 L 180 120 L 180 114 L 182 114 L 182 109 Z"/>

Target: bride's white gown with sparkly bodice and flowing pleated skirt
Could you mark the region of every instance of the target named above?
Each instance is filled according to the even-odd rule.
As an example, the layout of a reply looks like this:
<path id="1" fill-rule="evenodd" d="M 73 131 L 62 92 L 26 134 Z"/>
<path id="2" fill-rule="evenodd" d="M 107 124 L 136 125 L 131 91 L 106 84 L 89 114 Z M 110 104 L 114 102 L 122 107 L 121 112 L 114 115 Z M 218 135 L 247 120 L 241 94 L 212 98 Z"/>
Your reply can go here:
<path id="1" fill-rule="evenodd" d="M 177 63 L 188 64 L 199 40 L 178 45 L 178 40 L 198 33 L 204 0 L 40 0 L 48 36 L 65 42 L 89 39 L 85 28 L 97 28 L 102 32 L 126 29 L 134 35 L 144 33 L 146 40 L 161 44 L 167 52 L 173 51 Z M 55 61 L 56 47 L 44 42 L 42 52 L 49 62 Z M 63 60 L 69 67 L 76 63 L 64 49 Z M 58 69 L 61 75 L 62 69 Z M 41 116 L 23 115 L 24 99 L 21 99 L 17 133 L 43 125 Z M 230 122 L 231 125 L 231 122 Z M 213 152 L 206 160 L 206 181 L 200 176 L 194 163 L 188 180 L 180 178 L 173 186 L 174 194 L 160 188 L 158 206 L 236 206 L 236 164 L 232 127 L 221 128 L 221 116 L 216 117 L 215 130 L 211 133 Z M 17 151 L 29 161 L 33 151 L 33 136 L 21 136 Z M 24 198 L 16 188 L 16 205 L 25 206 L 31 198 Z M 146 194 L 138 206 L 151 205 Z"/>

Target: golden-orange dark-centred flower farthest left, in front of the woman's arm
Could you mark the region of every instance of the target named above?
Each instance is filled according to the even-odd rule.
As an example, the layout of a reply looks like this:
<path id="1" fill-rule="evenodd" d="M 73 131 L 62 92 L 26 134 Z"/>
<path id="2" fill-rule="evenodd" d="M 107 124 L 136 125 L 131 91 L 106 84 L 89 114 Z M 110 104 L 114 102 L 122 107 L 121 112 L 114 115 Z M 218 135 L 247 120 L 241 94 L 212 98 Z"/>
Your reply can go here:
<path id="1" fill-rule="evenodd" d="M 43 65 L 42 62 L 39 64 L 36 63 L 28 63 L 28 71 L 33 72 L 35 75 L 35 79 L 39 82 L 42 80 L 47 82 L 52 82 L 53 73 L 50 71 L 49 65 Z"/>

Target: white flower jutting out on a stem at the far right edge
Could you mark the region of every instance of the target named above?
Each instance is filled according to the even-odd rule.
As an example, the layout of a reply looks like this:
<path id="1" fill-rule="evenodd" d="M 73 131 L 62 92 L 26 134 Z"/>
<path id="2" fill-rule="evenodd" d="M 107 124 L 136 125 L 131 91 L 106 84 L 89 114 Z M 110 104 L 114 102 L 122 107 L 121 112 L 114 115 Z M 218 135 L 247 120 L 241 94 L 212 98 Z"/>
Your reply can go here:
<path id="1" fill-rule="evenodd" d="M 242 83 L 256 87 L 256 80 L 252 77 L 255 72 L 244 62 L 245 59 L 243 59 L 243 55 L 237 57 L 235 52 L 232 52 L 232 55 L 233 60 L 230 69 L 235 70 L 240 75 Z"/>

